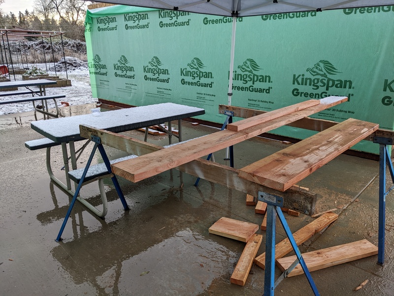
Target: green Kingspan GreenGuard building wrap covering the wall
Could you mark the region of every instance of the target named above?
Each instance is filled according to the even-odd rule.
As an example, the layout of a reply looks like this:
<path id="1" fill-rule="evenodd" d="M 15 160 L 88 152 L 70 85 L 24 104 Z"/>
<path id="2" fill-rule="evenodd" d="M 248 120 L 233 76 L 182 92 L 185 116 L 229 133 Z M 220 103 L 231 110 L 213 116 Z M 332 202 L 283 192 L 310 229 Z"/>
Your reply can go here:
<path id="1" fill-rule="evenodd" d="M 131 6 L 88 10 L 93 97 L 134 106 L 173 102 L 223 123 L 232 21 Z M 349 101 L 312 117 L 357 118 L 394 130 L 394 6 L 237 19 L 231 105 L 264 111 L 331 95 Z M 314 132 L 272 133 L 304 139 Z M 365 142 L 365 143 L 364 143 Z M 353 149 L 378 153 L 362 141 Z"/>

